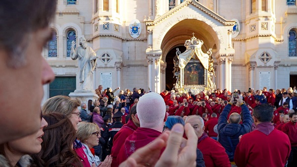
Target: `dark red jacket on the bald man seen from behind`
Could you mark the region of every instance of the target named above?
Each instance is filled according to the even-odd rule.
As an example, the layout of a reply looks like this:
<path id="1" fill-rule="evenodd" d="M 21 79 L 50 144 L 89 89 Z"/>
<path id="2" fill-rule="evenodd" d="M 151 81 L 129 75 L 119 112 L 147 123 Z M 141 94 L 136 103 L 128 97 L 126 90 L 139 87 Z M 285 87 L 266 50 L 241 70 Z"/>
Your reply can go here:
<path id="1" fill-rule="evenodd" d="M 154 129 L 145 127 L 137 128 L 132 135 L 127 137 L 121 149 L 119 150 L 117 163 L 121 164 L 127 160 L 127 158 L 137 149 L 146 146 L 148 143 L 156 139 L 160 134 L 162 133 Z"/>

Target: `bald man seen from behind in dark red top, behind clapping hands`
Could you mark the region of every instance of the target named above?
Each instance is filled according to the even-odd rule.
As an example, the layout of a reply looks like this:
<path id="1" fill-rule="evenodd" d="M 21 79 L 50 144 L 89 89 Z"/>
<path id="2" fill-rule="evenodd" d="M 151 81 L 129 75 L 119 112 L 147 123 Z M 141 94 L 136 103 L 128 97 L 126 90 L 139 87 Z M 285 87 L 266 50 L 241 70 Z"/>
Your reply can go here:
<path id="1" fill-rule="evenodd" d="M 161 95 L 153 92 L 143 95 L 137 104 L 136 113 L 140 127 L 126 139 L 121 147 L 117 157 L 118 164 L 162 134 L 167 116 L 168 113 Z"/>

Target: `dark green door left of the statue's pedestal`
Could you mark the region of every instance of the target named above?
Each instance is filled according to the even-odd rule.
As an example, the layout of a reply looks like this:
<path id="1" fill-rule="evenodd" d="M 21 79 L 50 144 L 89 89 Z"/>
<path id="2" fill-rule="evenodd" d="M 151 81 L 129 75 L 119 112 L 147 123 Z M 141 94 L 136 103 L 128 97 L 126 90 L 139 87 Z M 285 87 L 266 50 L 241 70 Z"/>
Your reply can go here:
<path id="1" fill-rule="evenodd" d="M 52 83 L 49 84 L 49 98 L 63 95 L 68 96 L 69 93 L 76 89 L 76 77 L 56 77 Z"/>

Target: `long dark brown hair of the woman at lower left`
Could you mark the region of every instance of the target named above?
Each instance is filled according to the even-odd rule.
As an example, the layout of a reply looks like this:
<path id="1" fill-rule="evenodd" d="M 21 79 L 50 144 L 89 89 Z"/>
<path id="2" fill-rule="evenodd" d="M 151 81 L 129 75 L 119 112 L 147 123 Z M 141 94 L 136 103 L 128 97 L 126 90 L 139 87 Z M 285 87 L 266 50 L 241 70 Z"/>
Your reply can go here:
<path id="1" fill-rule="evenodd" d="M 32 167 L 83 167 L 73 151 L 76 132 L 71 121 L 60 113 L 43 117 L 49 125 L 44 128 L 41 152 L 32 155 Z"/>

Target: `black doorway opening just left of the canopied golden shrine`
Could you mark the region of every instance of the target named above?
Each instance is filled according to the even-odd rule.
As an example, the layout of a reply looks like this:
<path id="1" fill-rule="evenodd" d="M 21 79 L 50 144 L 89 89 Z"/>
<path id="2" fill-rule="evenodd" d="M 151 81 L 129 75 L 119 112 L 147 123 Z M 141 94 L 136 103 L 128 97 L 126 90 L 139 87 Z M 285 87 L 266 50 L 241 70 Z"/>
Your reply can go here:
<path id="1" fill-rule="evenodd" d="M 173 68 L 174 68 L 174 64 L 173 64 L 173 57 L 176 55 L 176 49 L 179 49 L 179 51 L 181 53 L 184 53 L 186 51 L 186 47 L 184 46 L 178 46 L 175 48 L 172 48 L 168 54 L 166 55 L 166 90 L 172 90 L 173 88 L 173 84 L 174 82 L 174 78 L 173 78 Z"/>

